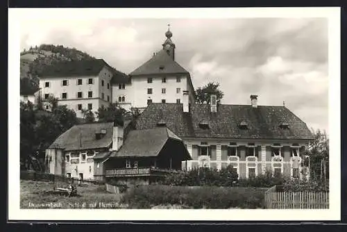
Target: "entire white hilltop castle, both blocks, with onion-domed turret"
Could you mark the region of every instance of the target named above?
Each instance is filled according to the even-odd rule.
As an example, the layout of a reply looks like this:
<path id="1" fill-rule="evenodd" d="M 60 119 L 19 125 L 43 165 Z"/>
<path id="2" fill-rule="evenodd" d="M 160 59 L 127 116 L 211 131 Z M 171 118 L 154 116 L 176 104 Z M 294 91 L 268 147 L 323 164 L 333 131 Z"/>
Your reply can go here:
<path id="1" fill-rule="evenodd" d="M 144 109 L 149 103 L 181 103 L 183 92 L 189 92 L 194 102 L 194 87 L 189 72 L 175 61 L 176 45 L 172 33 L 162 50 L 129 75 L 110 67 L 104 60 L 68 61 L 45 67 L 40 74 L 42 99 L 58 98 L 58 104 L 76 110 L 83 117 L 83 109 L 97 111 L 108 103 L 118 102 L 122 108 Z M 49 110 L 49 104 L 45 106 Z"/>

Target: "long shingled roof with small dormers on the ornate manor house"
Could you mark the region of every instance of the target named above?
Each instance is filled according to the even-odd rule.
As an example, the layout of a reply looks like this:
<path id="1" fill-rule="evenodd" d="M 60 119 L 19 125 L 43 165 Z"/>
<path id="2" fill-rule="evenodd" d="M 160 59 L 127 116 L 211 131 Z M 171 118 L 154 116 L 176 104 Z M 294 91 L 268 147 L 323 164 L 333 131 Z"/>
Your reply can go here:
<path id="1" fill-rule="evenodd" d="M 137 129 L 155 128 L 160 120 L 180 138 L 312 139 L 305 122 L 284 106 L 218 105 L 211 113 L 210 104 L 194 103 L 183 113 L 182 103 L 151 103 L 137 119 Z M 288 129 L 280 128 L 282 122 Z"/>

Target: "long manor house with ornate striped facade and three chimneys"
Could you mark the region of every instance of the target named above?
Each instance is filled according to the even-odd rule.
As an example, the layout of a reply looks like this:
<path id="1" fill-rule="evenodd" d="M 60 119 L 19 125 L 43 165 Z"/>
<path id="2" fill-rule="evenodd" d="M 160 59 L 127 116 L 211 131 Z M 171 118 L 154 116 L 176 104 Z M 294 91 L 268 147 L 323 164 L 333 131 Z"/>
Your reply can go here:
<path id="1" fill-rule="evenodd" d="M 184 142 L 192 160 L 183 169 L 232 165 L 239 178 L 264 174 L 283 174 L 295 178 L 307 175 L 303 151 L 312 134 L 305 122 L 285 106 L 151 103 L 139 116 L 137 129 L 165 125 Z M 307 176 L 308 177 L 308 176 Z"/>

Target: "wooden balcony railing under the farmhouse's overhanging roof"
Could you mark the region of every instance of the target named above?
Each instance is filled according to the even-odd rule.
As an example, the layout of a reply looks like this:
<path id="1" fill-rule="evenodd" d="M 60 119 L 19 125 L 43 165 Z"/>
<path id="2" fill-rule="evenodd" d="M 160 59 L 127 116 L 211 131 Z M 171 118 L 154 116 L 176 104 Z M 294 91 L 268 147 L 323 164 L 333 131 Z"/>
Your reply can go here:
<path id="1" fill-rule="evenodd" d="M 163 176 L 164 174 L 172 172 L 180 171 L 155 167 L 117 168 L 106 170 L 105 176 Z"/>

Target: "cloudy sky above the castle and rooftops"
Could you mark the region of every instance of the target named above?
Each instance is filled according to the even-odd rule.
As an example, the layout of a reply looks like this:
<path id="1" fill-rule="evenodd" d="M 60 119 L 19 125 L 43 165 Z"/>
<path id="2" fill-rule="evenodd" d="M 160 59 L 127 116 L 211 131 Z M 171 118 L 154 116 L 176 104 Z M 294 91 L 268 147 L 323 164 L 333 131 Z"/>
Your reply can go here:
<path id="1" fill-rule="evenodd" d="M 176 61 L 198 88 L 218 82 L 222 103 L 285 106 L 307 126 L 328 132 L 328 21 L 280 19 L 26 20 L 21 49 L 75 47 L 132 72 L 161 49 L 167 24 Z"/>

